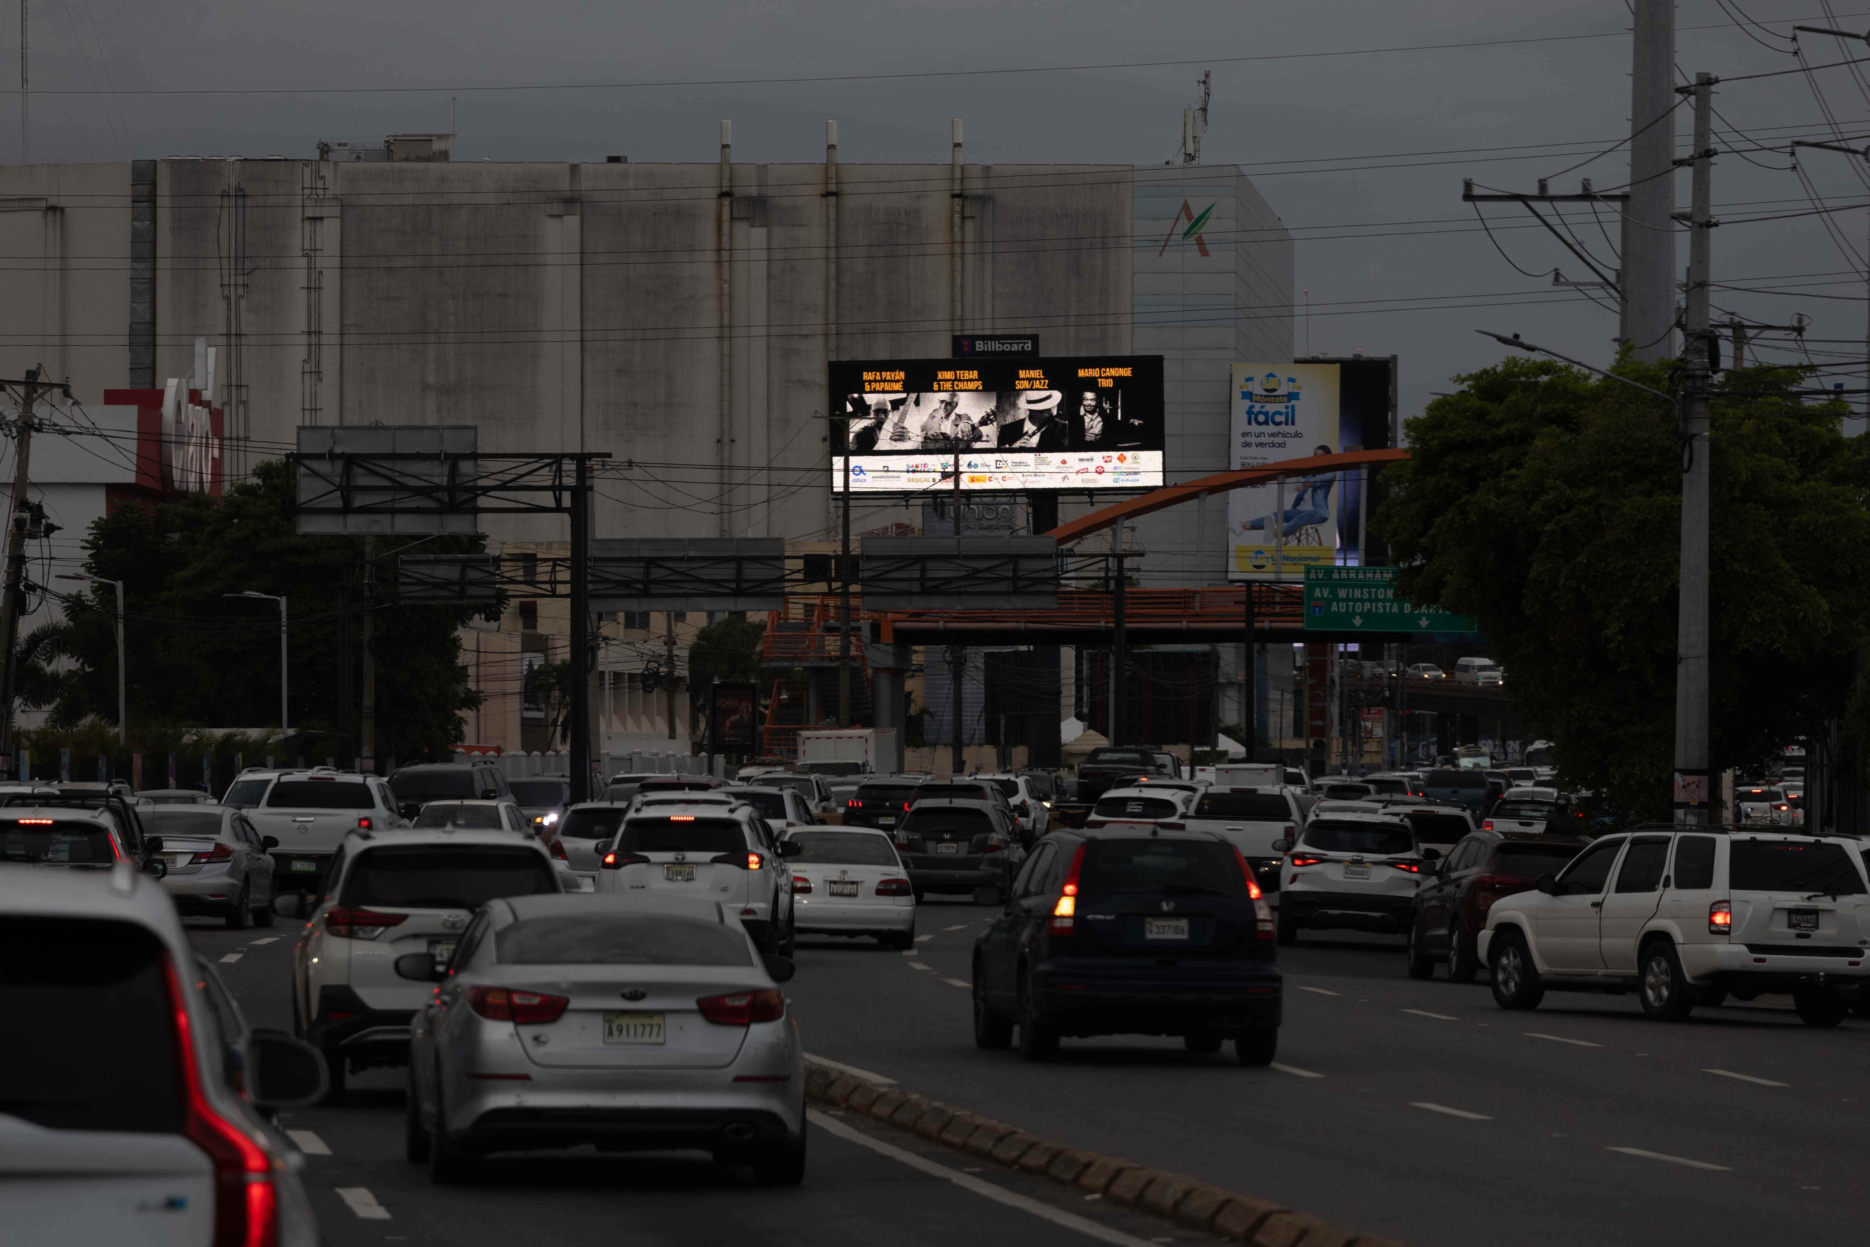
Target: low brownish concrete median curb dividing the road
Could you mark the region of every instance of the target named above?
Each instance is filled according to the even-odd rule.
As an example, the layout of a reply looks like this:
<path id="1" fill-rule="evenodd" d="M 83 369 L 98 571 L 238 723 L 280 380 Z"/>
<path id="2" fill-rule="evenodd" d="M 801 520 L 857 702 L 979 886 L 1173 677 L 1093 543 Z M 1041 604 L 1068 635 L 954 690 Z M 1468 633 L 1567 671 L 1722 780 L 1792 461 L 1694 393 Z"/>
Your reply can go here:
<path id="1" fill-rule="evenodd" d="M 1272 1200 L 1210 1187 L 1187 1174 L 1167 1174 L 1118 1155 L 1038 1139 L 1006 1122 L 899 1086 L 879 1086 L 810 1058 L 806 1099 L 860 1112 L 1008 1168 L 1101 1195 L 1184 1228 L 1206 1230 L 1255 1247 L 1402 1247 L 1395 1240 L 1328 1225 Z"/>

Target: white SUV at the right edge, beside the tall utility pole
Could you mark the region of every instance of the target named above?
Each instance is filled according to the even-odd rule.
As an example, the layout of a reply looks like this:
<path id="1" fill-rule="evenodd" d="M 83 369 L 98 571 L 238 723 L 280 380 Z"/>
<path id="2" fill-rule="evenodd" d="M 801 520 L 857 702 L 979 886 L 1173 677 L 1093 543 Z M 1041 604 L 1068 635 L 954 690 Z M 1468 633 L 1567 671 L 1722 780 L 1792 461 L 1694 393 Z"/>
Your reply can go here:
<path id="1" fill-rule="evenodd" d="M 1806 1025 L 1834 1026 L 1846 993 L 1870 989 L 1870 886 L 1851 838 L 1638 826 L 1494 901 L 1479 959 L 1507 1010 L 1634 987 L 1644 1013 L 1677 1021 L 1728 995 L 1791 993 Z"/>

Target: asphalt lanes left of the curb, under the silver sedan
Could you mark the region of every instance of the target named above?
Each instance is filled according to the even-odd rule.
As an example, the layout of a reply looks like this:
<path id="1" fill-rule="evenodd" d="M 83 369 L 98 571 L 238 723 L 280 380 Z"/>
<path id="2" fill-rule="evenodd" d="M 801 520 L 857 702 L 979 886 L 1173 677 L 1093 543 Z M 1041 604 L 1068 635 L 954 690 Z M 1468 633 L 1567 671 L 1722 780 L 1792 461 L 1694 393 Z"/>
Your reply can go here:
<path id="1" fill-rule="evenodd" d="M 299 924 L 226 931 L 189 924 L 256 1026 L 292 1026 L 290 957 Z M 795 980 L 797 982 L 797 980 Z M 810 1032 L 808 1032 L 810 1034 Z M 755 1187 L 692 1155 L 499 1157 L 468 1185 L 436 1187 L 402 1157 L 402 1071 L 352 1081 L 342 1105 L 280 1114 L 299 1144 L 305 1183 L 331 1247 L 514 1241 L 813 1243 L 952 1247 L 1008 1241 L 1040 1247 L 1212 1243 L 1118 1206 L 1085 1206 L 1043 1180 L 871 1125 L 813 1112 L 802 1187 Z"/>

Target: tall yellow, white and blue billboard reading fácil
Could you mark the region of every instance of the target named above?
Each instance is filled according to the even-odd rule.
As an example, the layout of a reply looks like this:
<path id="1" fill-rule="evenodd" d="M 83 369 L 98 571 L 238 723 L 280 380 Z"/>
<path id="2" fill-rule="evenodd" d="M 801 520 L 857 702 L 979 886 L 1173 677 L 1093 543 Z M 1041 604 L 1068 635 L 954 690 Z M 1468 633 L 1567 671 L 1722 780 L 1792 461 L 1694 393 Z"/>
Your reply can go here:
<path id="1" fill-rule="evenodd" d="M 1232 467 L 1260 467 L 1339 451 L 1337 365 L 1236 363 Z M 1227 495 L 1227 578 L 1303 578 L 1337 557 L 1341 473 L 1292 477 Z M 1283 540 L 1281 540 L 1283 538 Z"/>

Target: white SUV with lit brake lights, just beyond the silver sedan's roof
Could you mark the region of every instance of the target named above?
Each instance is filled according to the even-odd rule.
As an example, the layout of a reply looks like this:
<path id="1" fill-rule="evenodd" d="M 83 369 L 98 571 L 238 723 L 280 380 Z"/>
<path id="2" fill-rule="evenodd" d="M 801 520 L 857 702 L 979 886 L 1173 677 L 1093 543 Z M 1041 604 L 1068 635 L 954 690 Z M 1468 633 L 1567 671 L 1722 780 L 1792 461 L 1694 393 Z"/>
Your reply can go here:
<path id="1" fill-rule="evenodd" d="M 761 952 L 793 955 L 793 871 L 800 847 L 746 802 L 654 802 L 625 815 L 598 858 L 606 896 L 718 901 Z"/>

